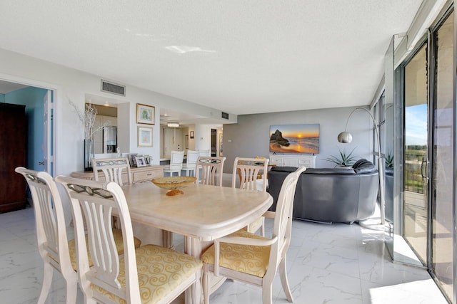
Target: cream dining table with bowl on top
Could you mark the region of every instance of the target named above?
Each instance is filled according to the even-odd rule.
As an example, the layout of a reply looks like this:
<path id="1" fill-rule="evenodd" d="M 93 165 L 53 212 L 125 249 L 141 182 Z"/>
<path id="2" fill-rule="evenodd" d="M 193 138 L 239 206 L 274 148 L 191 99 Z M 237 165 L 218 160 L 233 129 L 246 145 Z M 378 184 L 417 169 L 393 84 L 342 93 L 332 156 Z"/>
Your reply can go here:
<path id="1" fill-rule="evenodd" d="M 184 194 L 167 196 L 152 182 L 122 186 L 131 221 L 163 231 L 163 246 L 171 248 L 172 233 L 185 236 L 186 253 L 200 258 L 214 239 L 231 234 L 262 216 L 273 204 L 268 192 L 191 184 Z M 211 279 L 211 291 L 224 283 Z M 189 301 L 186 293 L 186 303 Z"/>

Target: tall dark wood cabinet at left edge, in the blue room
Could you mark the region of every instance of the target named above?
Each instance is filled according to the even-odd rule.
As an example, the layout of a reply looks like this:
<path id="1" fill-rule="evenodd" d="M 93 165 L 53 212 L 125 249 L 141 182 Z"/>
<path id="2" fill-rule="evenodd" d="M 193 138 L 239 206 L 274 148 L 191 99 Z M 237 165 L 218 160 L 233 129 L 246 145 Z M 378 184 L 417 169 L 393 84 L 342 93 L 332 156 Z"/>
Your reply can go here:
<path id="1" fill-rule="evenodd" d="M 26 182 L 16 167 L 26 167 L 25 105 L 0 103 L 0 213 L 24 209 Z"/>

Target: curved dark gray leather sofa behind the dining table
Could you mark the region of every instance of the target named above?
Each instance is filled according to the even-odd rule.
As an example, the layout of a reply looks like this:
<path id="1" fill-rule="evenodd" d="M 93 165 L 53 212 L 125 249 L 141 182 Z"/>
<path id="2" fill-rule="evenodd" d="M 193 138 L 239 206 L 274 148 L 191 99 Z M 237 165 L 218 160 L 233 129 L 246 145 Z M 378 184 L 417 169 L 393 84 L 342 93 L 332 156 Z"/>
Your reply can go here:
<path id="1" fill-rule="evenodd" d="M 283 180 L 296 167 L 273 167 L 268 184 L 273 205 Z M 373 215 L 378 196 L 378 169 L 367 159 L 351 168 L 309 168 L 298 179 L 293 201 L 293 218 L 353 223 Z"/>

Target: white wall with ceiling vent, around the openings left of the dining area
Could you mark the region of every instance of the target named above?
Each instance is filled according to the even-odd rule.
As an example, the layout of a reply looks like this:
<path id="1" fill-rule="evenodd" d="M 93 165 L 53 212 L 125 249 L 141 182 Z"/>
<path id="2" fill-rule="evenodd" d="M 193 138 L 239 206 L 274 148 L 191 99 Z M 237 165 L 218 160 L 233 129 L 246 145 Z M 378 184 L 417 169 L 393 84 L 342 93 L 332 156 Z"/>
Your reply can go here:
<path id="1" fill-rule="evenodd" d="M 0 79 L 26 85 L 34 85 L 39 88 L 54 90 L 54 122 L 55 122 L 55 160 L 56 174 L 69 175 L 74 171 L 81 171 L 83 167 L 83 138 L 84 131 L 74 109 L 69 101 L 76 104 L 81 110 L 84 109 L 86 94 L 113 98 L 113 95 L 100 91 L 101 79 L 110 80 L 106 75 L 91 75 L 79 70 L 66 68 L 61 65 L 41 61 L 36 58 L 24 56 L 19 53 L 0 49 Z M 119 81 L 113 80 L 116 83 Z M 154 164 L 159 164 L 160 149 L 160 108 L 187 112 L 201 117 L 221 117 L 221 111 L 207 108 L 185 100 L 179 100 L 170 96 L 161 95 L 148 90 L 126 85 L 126 96 L 117 96 L 123 104 L 123 110 L 119 111 L 119 129 L 121 124 L 128 124 L 126 132 L 129 142 L 119 142 L 121 152 L 138 152 L 150 154 L 154 157 Z M 137 147 L 136 138 L 136 103 L 154 105 L 156 107 L 156 125 L 153 126 L 153 147 Z M 236 122 L 236 115 L 230 115 L 231 122 Z M 122 128 L 124 129 L 124 128 Z M 198 135 L 197 135 L 198 136 Z M 127 146 L 126 146 L 127 145 Z M 70 216 L 66 209 L 66 216 Z"/>

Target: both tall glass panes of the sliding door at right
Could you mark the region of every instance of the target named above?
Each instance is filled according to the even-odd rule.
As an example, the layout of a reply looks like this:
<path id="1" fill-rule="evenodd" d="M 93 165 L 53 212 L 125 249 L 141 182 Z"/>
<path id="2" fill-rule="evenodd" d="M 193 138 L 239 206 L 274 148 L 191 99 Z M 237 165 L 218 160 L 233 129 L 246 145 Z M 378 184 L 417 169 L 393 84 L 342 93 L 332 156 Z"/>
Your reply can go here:
<path id="1" fill-rule="evenodd" d="M 454 13 L 403 65 L 402 236 L 448 300 L 454 293 Z"/>

